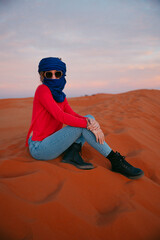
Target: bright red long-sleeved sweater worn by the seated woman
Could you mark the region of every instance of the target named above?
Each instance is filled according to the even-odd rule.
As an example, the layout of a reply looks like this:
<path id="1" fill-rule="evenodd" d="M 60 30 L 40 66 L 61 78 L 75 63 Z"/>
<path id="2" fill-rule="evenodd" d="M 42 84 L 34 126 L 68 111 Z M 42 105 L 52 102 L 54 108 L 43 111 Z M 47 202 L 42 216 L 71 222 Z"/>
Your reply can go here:
<path id="1" fill-rule="evenodd" d="M 50 89 L 44 84 L 39 85 L 33 99 L 32 120 L 26 146 L 32 131 L 32 140 L 42 141 L 60 130 L 63 123 L 73 127 L 87 128 L 87 117 L 75 113 L 69 106 L 67 98 L 63 102 L 56 102 Z"/>

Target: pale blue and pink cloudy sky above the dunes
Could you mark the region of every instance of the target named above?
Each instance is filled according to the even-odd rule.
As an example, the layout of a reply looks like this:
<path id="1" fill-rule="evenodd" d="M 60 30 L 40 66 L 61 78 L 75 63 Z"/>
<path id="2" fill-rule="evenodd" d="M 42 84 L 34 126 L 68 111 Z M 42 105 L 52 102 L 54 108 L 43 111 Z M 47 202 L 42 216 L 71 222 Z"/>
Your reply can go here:
<path id="1" fill-rule="evenodd" d="M 160 0 L 0 0 L 0 98 L 33 97 L 39 61 L 67 97 L 160 89 Z"/>

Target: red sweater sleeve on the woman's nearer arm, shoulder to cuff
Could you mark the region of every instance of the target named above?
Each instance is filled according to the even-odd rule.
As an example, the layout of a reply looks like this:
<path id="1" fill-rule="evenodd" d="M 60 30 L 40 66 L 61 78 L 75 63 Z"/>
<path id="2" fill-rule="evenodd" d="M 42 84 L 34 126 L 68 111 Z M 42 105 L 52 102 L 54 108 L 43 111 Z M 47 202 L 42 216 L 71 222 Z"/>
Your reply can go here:
<path id="1" fill-rule="evenodd" d="M 73 127 L 87 128 L 87 119 L 78 118 L 64 112 L 53 99 L 49 88 L 40 85 L 37 89 L 37 98 L 43 107 L 58 121 Z"/>

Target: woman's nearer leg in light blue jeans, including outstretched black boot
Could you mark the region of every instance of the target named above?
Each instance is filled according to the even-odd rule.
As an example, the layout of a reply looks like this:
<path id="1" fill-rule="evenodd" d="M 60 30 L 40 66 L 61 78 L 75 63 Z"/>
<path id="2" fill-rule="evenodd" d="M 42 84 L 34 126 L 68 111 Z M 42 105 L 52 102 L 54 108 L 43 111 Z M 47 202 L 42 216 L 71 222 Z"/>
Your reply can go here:
<path id="1" fill-rule="evenodd" d="M 93 117 L 91 115 L 86 116 Z M 111 161 L 112 171 L 119 172 L 132 179 L 144 175 L 141 169 L 135 168 L 125 161 L 124 156 L 121 156 L 120 153 L 113 152 L 106 142 L 103 144 L 97 143 L 95 135 L 86 128 L 66 126 L 43 141 L 32 141 L 29 138 L 29 150 L 35 159 L 51 160 L 57 158 L 74 142 L 84 144 L 85 141 Z"/>

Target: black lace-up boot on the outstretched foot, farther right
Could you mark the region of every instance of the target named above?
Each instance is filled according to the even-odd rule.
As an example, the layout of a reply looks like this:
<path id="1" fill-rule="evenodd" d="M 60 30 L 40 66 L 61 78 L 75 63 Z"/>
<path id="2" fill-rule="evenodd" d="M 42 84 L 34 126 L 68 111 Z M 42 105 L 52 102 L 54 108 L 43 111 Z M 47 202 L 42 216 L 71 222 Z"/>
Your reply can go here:
<path id="1" fill-rule="evenodd" d="M 110 160 L 114 172 L 121 173 L 131 179 L 137 179 L 144 175 L 140 168 L 135 168 L 129 164 L 125 160 L 125 156 L 122 156 L 119 152 L 111 151 L 106 158 Z"/>

